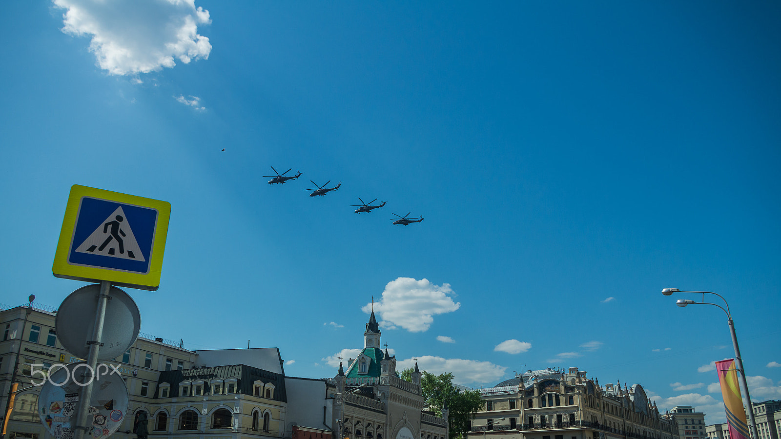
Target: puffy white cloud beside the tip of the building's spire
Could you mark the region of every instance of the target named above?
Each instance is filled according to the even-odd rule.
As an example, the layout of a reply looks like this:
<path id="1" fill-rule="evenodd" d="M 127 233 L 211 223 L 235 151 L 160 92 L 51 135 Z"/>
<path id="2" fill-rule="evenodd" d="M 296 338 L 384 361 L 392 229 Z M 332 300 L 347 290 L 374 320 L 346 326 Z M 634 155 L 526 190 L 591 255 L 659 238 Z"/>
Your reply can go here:
<path id="1" fill-rule="evenodd" d="M 410 332 L 423 332 L 433 323 L 434 315 L 461 307 L 461 303 L 453 302 L 448 295 L 452 293 L 449 284 L 439 286 L 427 279 L 399 277 L 385 285 L 383 297 L 374 304 L 374 310 L 380 314 L 383 328 L 402 327 Z M 372 305 L 367 304 L 362 310 L 368 313 Z"/>

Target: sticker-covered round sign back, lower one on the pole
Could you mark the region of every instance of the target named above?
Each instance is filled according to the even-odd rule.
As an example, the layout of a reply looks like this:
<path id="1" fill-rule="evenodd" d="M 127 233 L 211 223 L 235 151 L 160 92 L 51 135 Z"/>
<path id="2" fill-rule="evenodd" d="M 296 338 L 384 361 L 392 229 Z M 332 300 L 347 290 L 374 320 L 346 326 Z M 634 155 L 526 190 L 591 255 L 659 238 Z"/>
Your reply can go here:
<path id="1" fill-rule="evenodd" d="M 87 416 L 87 434 L 94 439 L 107 437 L 122 424 L 127 412 L 127 387 L 122 376 L 111 366 L 98 363 L 94 373 L 89 372 L 87 362 L 56 364 L 52 369 L 38 397 L 38 416 L 45 429 L 55 439 L 73 439 L 73 430 L 78 419 L 80 391 L 87 384 L 81 377 L 87 373 L 87 380 L 94 380 Z M 52 370 L 50 369 L 50 371 Z M 73 377 L 78 377 L 74 380 Z M 77 382 L 78 381 L 78 382 Z"/>

